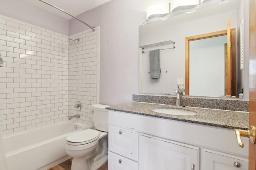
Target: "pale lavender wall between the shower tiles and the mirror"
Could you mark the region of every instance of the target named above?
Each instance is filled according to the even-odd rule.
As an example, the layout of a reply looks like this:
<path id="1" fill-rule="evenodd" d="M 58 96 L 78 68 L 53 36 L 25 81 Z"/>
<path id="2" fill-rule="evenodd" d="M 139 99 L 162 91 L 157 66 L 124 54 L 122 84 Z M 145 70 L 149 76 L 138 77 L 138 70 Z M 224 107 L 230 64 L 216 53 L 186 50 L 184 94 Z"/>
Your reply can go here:
<path id="1" fill-rule="evenodd" d="M 139 25 L 154 0 L 112 0 L 78 16 L 100 25 L 100 104 L 132 101 L 139 92 Z M 70 35 L 84 25 L 70 20 Z"/>

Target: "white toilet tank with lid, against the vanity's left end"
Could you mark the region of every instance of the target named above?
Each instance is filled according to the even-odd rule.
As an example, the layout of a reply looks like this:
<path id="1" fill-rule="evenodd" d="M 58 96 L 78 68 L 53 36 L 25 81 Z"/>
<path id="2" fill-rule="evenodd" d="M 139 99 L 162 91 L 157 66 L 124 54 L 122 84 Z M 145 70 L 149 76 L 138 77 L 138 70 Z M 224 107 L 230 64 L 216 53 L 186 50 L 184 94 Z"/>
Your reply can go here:
<path id="1" fill-rule="evenodd" d="M 103 104 L 92 105 L 93 124 L 95 129 L 108 132 L 108 110 L 106 110 L 105 107 L 109 106 Z"/>

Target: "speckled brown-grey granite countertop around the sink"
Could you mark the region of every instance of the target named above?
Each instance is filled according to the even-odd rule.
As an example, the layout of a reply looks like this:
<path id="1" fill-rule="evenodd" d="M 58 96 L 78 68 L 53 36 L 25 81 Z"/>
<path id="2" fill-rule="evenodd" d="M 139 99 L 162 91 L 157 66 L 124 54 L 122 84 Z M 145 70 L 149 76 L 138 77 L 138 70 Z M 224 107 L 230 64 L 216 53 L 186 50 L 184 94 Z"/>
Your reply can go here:
<path id="1" fill-rule="evenodd" d="M 163 119 L 210 125 L 228 129 L 244 129 L 249 127 L 249 113 L 244 111 L 228 111 L 220 109 L 205 109 L 199 107 L 184 107 L 182 109 L 196 112 L 196 115 L 168 115 L 152 111 L 155 108 L 172 108 L 172 105 L 151 104 L 144 102 L 128 102 L 106 107 L 108 110 L 134 113 Z M 174 108 L 180 109 L 180 108 Z"/>

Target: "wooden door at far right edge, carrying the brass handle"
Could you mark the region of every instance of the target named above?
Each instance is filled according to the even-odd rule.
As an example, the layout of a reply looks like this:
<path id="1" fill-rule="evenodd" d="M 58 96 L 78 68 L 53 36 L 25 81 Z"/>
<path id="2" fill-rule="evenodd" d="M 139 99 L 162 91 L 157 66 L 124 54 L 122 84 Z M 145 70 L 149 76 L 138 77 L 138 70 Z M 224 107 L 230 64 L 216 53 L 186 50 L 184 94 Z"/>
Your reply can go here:
<path id="1" fill-rule="evenodd" d="M 256 0 L 249 1 L 249 126 L 256 126 Z M 249 170 L 256 170 L 256 145 L 249 142 Z"/>

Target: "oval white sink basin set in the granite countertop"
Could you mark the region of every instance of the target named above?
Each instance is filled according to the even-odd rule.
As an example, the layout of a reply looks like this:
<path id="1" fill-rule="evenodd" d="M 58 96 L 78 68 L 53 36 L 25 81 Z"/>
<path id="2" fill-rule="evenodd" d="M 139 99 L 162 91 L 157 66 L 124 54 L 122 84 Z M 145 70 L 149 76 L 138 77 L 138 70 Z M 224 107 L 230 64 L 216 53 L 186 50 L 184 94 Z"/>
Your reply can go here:
<path id="1" fill-rule="evenodd" d="M 168 115 L 196 115 L 193 111 L 183 110 L 183 109 L 172 109 L 172 108 L 157 108 L 152 111 L 157 113 L 164 113 Z"/>

